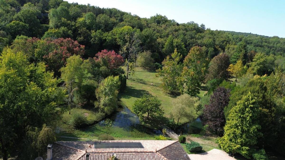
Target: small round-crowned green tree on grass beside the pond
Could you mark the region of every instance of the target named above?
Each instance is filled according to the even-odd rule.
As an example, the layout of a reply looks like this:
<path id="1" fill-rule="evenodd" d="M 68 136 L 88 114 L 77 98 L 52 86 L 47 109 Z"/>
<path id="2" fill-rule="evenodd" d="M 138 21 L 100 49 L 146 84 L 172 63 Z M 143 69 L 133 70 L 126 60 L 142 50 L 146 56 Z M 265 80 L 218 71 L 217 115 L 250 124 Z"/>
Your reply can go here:
<path id="1" fill-rule="evenodd" d="M 147 113 L 147 119 L 151 116 L 162 116 L 161 100 L 151 95 L 143 95 L 135 101 L 133 106 L 134 113 L 138 116 L 143 116 Z"/>

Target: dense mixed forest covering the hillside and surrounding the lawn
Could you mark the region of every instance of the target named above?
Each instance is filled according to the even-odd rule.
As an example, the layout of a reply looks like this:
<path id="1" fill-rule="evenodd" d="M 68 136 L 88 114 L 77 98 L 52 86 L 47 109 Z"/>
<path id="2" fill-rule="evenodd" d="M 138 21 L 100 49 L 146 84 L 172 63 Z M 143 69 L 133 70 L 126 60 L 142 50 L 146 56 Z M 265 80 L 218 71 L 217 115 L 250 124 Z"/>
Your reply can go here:
<path id="1" fill-rule="evenodd" d="M 0 53 L 4 160 L 44 153 L 56 137 L 59 106 L 91 105 L 112 114 L 136 67 L 156 72 L 161 89 L 178 104 L 197 102 L 174 108 L 195 107 L 223 150 L 247 158 L 262 148 L 284 154 L 285 38 L 63 0 L 0 0 Z M 198 98 L 202 87 L 207 93 Z M 161 100 L 144 95 L 135 103 L 137 115 L 149 118 L 143 100 L 157 104 L 150 117 L 163 114 Z M 84 124 L 77 116 L 74 128 Z M 198 117 L 173 116 L 167 124 L 174 128 L 181 117 Z"/>

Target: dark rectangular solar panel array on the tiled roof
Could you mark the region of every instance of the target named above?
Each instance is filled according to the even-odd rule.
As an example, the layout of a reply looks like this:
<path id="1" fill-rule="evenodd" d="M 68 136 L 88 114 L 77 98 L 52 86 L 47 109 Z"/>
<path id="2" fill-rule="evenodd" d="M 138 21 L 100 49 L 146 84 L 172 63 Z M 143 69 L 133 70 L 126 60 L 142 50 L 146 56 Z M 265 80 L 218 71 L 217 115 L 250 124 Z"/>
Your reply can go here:
<path id="1" fill-rule="evenodd" d="M 144 148 L 141 142 L 99 142 L 94 148 Z"/>

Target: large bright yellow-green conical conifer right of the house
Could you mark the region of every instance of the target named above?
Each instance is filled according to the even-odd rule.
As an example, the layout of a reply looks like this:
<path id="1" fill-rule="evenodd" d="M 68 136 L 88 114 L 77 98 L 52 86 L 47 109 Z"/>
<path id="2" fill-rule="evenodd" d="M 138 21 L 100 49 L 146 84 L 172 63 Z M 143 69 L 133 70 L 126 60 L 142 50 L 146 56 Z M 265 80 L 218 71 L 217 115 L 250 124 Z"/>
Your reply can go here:
<path id="1" fill-rule="evenodd" d="M 249 92 L 243 96 L 231 109 L 224 128 L 224 136 L 218 139 L 221 148 L 228 153 L 239 153 L 250 158 L 254 151 L 253 146 L 262 136 L 259 132 L 261 129 L 258 123 L 259 112 L 259 107 L 252 94 Z"/>

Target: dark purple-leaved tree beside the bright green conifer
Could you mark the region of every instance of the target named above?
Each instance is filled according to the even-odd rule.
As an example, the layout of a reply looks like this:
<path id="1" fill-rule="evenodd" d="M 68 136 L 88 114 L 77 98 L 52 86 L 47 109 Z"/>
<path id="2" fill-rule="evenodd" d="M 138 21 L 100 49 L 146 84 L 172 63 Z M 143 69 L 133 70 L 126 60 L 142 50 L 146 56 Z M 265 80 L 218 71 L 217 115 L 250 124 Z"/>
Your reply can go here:
<path id="1" fill-rule="evenodd" d="M 208 129 L 219 136 L 224 132 L 223 127 L 226 123 L 224 108 L 229 104 L 230 92 L 230 89 L 218 87 L 210 97 L 210 104 L 206 104 L 203 110 L 203 125 L 208 125 Z"/>

